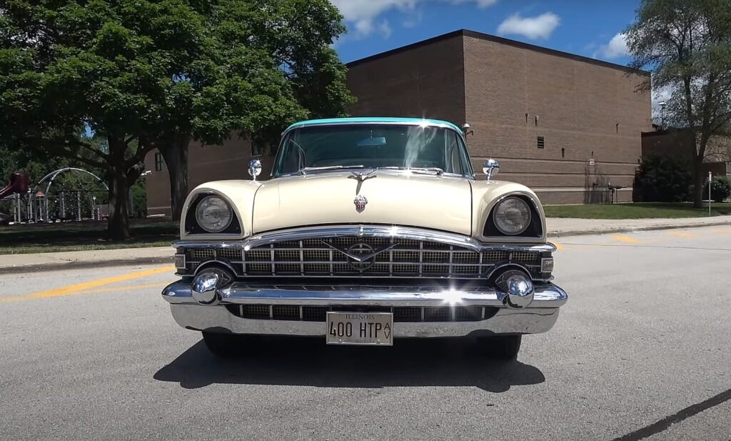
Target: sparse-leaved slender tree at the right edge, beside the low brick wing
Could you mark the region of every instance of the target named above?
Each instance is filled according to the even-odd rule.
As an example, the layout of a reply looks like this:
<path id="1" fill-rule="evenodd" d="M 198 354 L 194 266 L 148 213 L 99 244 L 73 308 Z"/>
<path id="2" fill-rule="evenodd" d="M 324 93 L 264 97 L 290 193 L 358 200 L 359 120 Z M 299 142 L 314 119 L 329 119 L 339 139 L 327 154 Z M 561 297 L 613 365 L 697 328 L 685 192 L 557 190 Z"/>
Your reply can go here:
<path id="1" fill-rule="evenodd" d="M 666 121 L 685 127 L 696 140 L 693 202 L 700 207 L 708 141 L 731 121 L 731 3 L 643 0 L 626 39 L 630 65 L 652 69 L 652 86 L 672 91 Z"/>

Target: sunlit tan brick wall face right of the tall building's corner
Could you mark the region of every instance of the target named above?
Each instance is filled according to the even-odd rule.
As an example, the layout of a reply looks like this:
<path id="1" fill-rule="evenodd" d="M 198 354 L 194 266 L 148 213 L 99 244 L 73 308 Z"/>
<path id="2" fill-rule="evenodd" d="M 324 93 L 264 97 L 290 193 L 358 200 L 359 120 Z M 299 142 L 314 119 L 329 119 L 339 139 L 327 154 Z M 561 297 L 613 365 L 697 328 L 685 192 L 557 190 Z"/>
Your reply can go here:
<path id="1" fill-rule="evenodd" d="M 635 91 L 644 75 L 477 37 L 464 37 L 464 52 L 475 170 L 492 157 L 500 178 L 566 189 L 539 192 L 545 203 L 582 203 L 595 199 L 588 189 L 632 186 L 641 132 L 651 129 L 651 97 Z M 539 136 L 545 148 L 537 148 Z M 618 194 L 632 200 L 632 192 Z"/>

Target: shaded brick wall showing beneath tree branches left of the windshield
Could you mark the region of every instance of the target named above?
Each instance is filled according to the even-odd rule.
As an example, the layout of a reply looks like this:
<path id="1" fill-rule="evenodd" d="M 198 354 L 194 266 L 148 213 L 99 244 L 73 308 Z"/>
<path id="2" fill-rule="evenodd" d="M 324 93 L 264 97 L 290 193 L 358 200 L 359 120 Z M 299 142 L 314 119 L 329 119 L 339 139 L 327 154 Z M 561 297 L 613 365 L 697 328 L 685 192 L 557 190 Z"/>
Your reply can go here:
<path id="1" fill-rule="evenodd" d="M 170 216 L 170 178 L 167 167 L 155 170 L 155 153 L 151 151 L 145 158 L 145 170 L 151 170 L 147 180 L 148 215 L 164 214 Z M 260 180 L 269 178 L 273 158 L 260 157 L 262 174 Z M 221 146 L 202 146 L 194 141 L 188 146 L 188 189 L 208 181 L 222 179 L 250 179 L 248 166 L 251 160 L 251 143 L 233 135 Z"/>

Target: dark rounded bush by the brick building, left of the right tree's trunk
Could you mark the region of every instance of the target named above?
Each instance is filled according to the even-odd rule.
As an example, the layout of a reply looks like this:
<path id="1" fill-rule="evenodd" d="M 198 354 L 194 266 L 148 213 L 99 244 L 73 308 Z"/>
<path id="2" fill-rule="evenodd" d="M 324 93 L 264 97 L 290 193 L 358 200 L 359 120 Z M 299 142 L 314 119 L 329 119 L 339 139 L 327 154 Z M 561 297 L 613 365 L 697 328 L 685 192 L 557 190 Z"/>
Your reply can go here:
<path id="1" fill-rule="evenodd" d="M 691 173 L 677 159 L 649 155 L 635 173 L 635 196 L 640 202 L 683 202 L 689 199 L 691 182 Z"/>

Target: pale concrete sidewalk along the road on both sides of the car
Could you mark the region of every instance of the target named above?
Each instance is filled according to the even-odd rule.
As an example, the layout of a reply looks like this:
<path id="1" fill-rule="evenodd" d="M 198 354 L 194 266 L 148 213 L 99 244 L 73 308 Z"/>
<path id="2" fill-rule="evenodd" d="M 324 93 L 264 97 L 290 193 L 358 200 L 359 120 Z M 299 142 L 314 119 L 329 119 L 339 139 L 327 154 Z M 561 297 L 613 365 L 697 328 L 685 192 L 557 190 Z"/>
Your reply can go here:
<path id="1" fill-rule="evenodd" d="M 639 230 L 731 225 L 731 216 L 686 219 L 546 219 L 548 237 L 623 233 Z M 0 274 L 64 270 L 112 265 L 172 264 L 170 246 L 156 248 L 104 249 L 99 251 L 49 252 L 33 255 L 0 255 Z"/>

